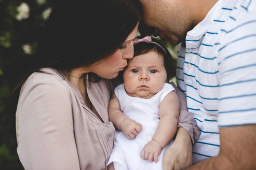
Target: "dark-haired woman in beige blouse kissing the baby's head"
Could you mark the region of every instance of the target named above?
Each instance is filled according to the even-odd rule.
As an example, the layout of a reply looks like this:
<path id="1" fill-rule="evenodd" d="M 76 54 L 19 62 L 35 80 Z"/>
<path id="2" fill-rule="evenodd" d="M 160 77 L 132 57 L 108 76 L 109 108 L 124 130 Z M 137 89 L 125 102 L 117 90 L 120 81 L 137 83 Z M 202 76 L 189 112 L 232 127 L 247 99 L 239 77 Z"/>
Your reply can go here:
<path id="1" fill-rule="evenodd" d="M 53 6 L 16 112 L 25 169 L 106 169 L 115 135 L 107 107 L 116 86 L 107 79 L 133 56 L 140 11 L 133 0 Z M 178 138 L 191 141 L 182 130 Z M 184 148 L 191 152 L 191 144 Z"/>

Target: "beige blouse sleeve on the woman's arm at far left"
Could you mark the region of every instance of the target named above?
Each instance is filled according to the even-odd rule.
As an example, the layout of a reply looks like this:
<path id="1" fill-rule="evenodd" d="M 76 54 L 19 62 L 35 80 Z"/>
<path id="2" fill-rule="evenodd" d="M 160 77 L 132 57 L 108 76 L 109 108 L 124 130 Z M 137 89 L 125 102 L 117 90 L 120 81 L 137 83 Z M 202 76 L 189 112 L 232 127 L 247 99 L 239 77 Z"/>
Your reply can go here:
<path id="1" fill-rule="evenodd" d="M 69 92 L 58 81 L 34 78 L 22 88 L 16 127 L 25 169 L 80 169 Z"/>

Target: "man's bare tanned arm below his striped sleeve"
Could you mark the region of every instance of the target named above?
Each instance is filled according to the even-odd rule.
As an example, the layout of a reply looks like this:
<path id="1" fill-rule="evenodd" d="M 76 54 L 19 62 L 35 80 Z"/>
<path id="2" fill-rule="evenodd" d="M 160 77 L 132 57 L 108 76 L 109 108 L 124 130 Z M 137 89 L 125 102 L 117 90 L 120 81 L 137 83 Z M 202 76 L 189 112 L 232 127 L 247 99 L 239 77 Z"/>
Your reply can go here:
<path id="1" fill-rule="evenodd" d="M 256 124 L 220 128 L 220 153 L 188 169 L 256 169 Z"/>

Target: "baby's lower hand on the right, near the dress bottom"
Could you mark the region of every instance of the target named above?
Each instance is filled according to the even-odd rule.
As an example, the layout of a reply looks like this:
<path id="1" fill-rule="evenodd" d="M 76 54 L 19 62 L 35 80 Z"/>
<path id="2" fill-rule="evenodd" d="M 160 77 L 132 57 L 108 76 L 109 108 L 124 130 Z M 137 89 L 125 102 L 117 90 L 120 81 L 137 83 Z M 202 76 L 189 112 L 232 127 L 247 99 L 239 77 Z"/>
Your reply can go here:
<path id="1" fill-rule="evenodd" d="M 160 143 L 155 140 L 150 140 L 141 151 L 141 158 L 144 160 L 149 160 L 150 162 L 157 162 L 158 155 L 162 151 Z"/>

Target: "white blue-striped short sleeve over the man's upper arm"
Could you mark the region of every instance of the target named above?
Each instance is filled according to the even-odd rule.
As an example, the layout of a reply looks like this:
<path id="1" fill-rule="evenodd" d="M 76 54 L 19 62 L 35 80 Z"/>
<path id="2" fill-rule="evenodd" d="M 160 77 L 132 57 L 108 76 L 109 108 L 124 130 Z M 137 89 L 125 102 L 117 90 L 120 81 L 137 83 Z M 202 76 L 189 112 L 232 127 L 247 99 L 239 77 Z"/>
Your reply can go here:
<path id="1" fill-rule="evenodd" d="M 219 127 L 256 123 L 256 12 L 250 8 L 233 16 L 218 51 Z"/>

